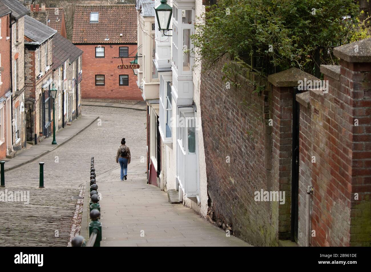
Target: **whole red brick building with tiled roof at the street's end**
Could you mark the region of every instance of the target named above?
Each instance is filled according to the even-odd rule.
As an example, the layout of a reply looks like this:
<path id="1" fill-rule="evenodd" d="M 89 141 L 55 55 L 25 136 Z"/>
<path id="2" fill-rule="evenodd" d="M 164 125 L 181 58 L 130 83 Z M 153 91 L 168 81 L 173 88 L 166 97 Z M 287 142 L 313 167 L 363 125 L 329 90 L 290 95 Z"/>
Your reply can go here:
<path id="1" fill-rule="evenodd" d="M 135 5 L 77 5 L 72 42 L 84 52 L 82 99 L 142 100 L 133 70 L 118 69 L 137 52 Z"/>

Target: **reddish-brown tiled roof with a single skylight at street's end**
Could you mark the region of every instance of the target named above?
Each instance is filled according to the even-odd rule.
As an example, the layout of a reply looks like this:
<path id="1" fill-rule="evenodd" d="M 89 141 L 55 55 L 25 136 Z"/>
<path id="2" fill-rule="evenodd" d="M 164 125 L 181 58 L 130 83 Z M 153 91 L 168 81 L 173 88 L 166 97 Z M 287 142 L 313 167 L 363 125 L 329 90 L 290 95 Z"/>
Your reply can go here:
<path id="1" fill-rule="evenodd" d="M 99 12 L 98 23 L 90 23 L 91 12 Z M 109 40 L 105 40 L 107 35 Z M 77 5 L 72 42 L 137 43 L 135 5 Z"/>

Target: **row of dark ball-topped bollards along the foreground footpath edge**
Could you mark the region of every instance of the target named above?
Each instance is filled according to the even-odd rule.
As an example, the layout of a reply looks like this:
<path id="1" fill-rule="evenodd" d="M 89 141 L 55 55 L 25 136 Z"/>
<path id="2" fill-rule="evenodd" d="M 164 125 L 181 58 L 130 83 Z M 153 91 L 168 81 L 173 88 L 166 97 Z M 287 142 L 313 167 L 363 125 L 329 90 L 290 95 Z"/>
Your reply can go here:
<path id="1" fill-rule="evenodd" d="M 90 163 L 90 202 L 89 211 L 91 222 L 89 223 L 89 241 L 86 242 L 83 236 L 78 235 L 72 238 L 72 246 L 101 246 L 102 223 L 101 206 L 99 205 L 98 185 L 96 185 L 96 174 L 94 168 L 94 157 Z"/>

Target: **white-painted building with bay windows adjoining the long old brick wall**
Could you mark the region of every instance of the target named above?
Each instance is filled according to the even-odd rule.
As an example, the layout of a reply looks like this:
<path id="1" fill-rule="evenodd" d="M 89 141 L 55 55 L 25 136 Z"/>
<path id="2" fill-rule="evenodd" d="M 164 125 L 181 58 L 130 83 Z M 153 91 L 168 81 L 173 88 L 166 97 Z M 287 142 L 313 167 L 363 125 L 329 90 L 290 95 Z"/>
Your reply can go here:
<path id="1" fill-rule="evenodd" d="M 155 6 L 160 0 L 155 1 Z M 163 142 L 161 184 L 177 190 L 179 200 L 207 214 L 207 178 L 201 128 L 200 67 L 191 52 L 201 0 L 172 0 L 171 31 L 165 36 L 155 20 L 155 65 L 160 81 L 159 132 Z M 139 44 L 139 43 L 138 43 Z M 174 192 L 174 191 L 173 191 Z"/>

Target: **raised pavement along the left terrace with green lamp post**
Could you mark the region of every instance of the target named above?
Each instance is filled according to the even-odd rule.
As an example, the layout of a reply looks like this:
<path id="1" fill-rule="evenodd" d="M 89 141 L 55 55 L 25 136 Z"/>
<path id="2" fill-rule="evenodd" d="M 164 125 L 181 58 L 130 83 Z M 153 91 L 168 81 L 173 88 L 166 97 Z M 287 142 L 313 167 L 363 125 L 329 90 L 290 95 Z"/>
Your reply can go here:
<path id="1" fill-rule="evenodd" d="M 6 159 L 4 164 L 4 171 L 14 169 L 28 162 L 32 162 L 37 158 L 49 153 L 52 150 L 65 144 L 81 131 L 85 130 L 91 125 L 99 116 L 83 114 L 78 117 L 77 120 L 73 121 L 71 125 L 67 125 L 56 132 L 56 145 L 52 145 L 53 135 L 49 138 L 44 139 L 37 145 L 32 145 L 26 150 L 22 150 L 17 153 L 16 157 L 12 159 Z"/>

